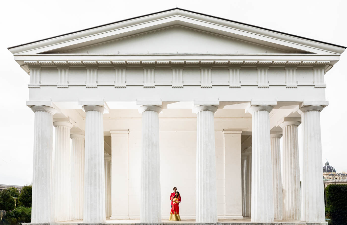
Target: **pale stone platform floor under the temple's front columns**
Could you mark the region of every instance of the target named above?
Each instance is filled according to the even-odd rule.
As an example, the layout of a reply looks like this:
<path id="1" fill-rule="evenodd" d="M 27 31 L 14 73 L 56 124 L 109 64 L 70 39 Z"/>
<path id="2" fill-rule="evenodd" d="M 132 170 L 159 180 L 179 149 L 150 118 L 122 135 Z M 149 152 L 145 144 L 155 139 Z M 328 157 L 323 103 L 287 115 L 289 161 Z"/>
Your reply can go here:
<path id="1" fill-rule="evenodd" d="M 301 222 L 299 220 L 278 220 L 275 219 L 273 223 L 255 223 L 251 222 L 250 217 L 243 219 L 218 219 L 218 223 L 195 223 L 195 219 L 184 219 L 180 221 L 170 221 L 163 219 L 162 223 L 147 224 L 140 223 L 139 219 L 110 219 L 106 218 L 105 224 L 91 224 L 91 225 L 328 225 L 328 222 L 314 223 L 314 222 Z M 39 223 L 23 223 L 22 225 L 86 225 L 83 220 L 59 221 L 51 224 Z"/>

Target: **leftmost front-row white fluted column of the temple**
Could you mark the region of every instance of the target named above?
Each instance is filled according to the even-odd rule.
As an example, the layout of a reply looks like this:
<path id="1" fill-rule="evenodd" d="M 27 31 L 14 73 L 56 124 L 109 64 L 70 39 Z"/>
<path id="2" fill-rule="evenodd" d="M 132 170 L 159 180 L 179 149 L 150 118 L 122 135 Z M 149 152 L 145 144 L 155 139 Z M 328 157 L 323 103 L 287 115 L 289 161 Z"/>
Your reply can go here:
<path id="1" fill-rule="evenodd" d="M 56 109 L 35 105 L 32 223 L 54 222 L 53 114 Z"/>

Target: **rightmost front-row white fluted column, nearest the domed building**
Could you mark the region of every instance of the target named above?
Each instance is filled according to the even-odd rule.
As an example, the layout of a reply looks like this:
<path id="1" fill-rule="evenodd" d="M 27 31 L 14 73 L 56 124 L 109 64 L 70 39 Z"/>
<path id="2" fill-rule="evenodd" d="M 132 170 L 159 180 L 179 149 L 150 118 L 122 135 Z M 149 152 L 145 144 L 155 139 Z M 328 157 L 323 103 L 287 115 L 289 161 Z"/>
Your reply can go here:
<path id="1" fill-rule="evenodd" d="M 323 106 L 301 107 L 302 120 L 302 221 L 324 222 L 320 111 Z"/>

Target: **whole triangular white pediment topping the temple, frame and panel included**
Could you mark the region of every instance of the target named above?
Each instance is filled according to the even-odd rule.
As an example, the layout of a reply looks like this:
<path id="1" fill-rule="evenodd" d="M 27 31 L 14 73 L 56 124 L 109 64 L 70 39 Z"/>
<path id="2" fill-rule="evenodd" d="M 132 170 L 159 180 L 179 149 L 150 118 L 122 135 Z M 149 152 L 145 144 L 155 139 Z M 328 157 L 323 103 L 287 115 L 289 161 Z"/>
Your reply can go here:
<path id="1" fill-rule="evenodd" d="M 170 9 L 10 47 L 13 54 L 340 54 L 345 47 Z"/>

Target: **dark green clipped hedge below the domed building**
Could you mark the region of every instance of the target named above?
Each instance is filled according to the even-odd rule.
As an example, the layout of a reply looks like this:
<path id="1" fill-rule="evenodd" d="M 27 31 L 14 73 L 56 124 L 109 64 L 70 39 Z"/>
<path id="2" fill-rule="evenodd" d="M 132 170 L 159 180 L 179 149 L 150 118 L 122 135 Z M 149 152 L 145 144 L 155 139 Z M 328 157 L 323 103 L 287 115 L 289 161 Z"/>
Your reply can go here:
<path id="1" fill-rule="evenodd" d="M 327 208 L 331 225 L 347 225 L 347 184 L 330 184 L 327 192 Z"/>

